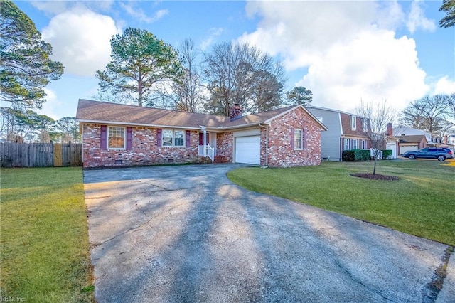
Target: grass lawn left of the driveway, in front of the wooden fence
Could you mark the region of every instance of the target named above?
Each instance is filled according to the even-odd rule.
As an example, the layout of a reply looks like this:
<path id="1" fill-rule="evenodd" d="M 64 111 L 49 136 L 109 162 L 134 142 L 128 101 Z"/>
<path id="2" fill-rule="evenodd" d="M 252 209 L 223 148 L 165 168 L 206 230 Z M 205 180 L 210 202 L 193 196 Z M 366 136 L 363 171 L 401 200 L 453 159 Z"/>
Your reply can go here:
<path id="1" fill-rule="evenodd" d="M 93 302 L 82 169 L 0 173 L 1 297 Z"/>

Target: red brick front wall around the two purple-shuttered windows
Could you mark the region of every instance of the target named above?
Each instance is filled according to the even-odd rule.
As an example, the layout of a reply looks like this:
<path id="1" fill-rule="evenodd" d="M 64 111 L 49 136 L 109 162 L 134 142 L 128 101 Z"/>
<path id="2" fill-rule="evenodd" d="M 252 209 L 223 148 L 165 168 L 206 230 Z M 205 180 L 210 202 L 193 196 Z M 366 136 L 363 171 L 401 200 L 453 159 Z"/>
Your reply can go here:
<path id="1" fill-rule="evenodd" d="M 132 150 L 100 148 L 101 125 L 82 124 L 84 167 L 198 163 L 199 132 L 190 132 L 190 147 L 156 147 L 156 128 L 133 127 Z M 121 160 L 121 164 L 115 162 Z"/>

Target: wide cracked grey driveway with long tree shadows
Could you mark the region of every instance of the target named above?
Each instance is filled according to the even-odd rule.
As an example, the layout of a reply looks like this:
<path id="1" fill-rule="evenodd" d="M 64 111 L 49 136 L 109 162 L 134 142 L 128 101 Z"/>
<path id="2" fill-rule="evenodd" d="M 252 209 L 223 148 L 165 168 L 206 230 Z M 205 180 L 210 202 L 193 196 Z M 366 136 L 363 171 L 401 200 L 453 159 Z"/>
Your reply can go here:
<path id="1" fill-rule="evenodd" d="M 447 245 L 247 191 L 238 166 L 84 171 L 97 301 L 455 302 Z"/>

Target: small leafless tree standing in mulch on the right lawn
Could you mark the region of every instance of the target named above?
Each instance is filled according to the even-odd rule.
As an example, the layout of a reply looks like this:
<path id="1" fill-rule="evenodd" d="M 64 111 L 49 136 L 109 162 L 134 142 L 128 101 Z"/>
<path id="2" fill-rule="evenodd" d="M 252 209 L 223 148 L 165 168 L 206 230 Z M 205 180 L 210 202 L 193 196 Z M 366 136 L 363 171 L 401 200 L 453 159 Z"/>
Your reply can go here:
<path id="1" fill-rule="evenodd" d="M 388 137 L 392 134 L 387 134 L 387 124 L 392 123 L 397 117 L 395 110 L 392 110 L 387 105 L 387 99 L 381 102 L 360 101 L 360 106 L 356 108 L 357 115 L 363 117 L 363 132 L 370 141 L 370 148 L 373 150 L 375 164 L 373 167 L 373 174 L 376 174 L 376 164 L 380 151 L 385 149 Z"/>

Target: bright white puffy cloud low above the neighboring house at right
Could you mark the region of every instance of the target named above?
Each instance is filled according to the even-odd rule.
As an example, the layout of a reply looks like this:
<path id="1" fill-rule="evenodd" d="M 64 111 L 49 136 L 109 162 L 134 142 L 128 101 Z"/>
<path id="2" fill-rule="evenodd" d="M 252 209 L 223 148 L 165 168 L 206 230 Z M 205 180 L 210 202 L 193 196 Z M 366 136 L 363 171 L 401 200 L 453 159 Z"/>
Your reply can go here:
<path id="1" fill-rule="evenodd" d="M 350 43 L 331 46 L 298 85 L 310 87 L 324 107 L 352 112 L 360 100 L 387 99 L 401 110 L 428 90 L 417 65 L 412 39 L 365 31 Z"/>

